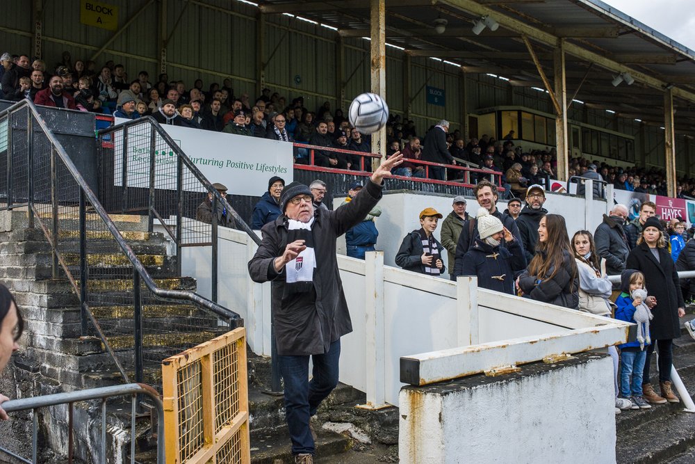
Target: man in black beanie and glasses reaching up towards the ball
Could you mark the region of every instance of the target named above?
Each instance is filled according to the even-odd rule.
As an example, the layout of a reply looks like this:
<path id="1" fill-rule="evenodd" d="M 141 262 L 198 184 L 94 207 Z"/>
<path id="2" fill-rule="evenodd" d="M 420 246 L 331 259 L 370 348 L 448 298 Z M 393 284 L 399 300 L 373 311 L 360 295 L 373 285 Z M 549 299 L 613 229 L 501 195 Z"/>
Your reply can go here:
<path id="1" fill-rule="evenodd" d="M 313 463 L 309 419 L 338 384 L 341 337 L 352 332 L 336 239 L 375 207 L 382 180 L 400 163 L 400 153 L 382 160 L 362 192 L 335 211 L 314 209 L 309 187 L 292 182 L 282 191 L 282 214 L 263 226 L 263 242 L 249 262 L 254 282 L 272 281 L 272 323 L 295 463 Z"/>

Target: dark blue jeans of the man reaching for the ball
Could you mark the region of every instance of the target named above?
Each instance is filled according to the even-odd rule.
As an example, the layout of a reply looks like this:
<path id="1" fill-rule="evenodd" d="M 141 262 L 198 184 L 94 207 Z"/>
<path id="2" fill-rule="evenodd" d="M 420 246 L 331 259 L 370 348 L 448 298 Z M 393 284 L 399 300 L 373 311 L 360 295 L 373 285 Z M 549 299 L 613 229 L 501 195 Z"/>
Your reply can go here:
<path id="1" fill-rule="evenodd" d="M 312 355 L 313 378 L 309 381 L 309 355 L 278 356 L 285 383 L 285 418 L 292 440 L 292 453 L 314 454 L 309 418 L 338 385 L 341 341 L 333 342 L 328 353 Z"/>

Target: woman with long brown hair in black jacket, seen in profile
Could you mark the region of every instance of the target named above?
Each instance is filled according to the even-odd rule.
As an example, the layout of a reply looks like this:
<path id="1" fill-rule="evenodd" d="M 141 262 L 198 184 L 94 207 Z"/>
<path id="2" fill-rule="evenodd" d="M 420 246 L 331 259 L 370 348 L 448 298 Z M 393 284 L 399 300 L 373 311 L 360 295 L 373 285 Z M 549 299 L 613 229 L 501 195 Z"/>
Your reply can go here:
<path id="1" fill-rule="evenodd" d="M 521 294 L 553 305 L 577 309 L 579 274 L 567 226 L 559 214 L 546 214 L 538 225 L 536 255 L 519 276 Z"/>

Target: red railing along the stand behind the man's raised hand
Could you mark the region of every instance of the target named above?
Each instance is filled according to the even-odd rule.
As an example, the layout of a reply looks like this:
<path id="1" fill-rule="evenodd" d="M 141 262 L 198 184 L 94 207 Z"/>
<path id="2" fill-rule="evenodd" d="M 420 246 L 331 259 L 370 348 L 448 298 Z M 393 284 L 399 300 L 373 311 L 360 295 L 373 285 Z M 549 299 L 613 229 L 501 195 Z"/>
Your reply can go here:
<path id="1" fill-rule="evenodd" d="M 368 176 L 370 175 L 367 173 L 364 169 L 364 163 L 366 163 L 366 160 L 371 161 L 372 159 L 380 159 L 381 156 L 379 154 L 375 153 L 365 153 L 365 152 L 354 152 L 352 150 L 342 150 L 339 148 L 334 148 L 334 147 L 320 147 L 318 145 L 308 145 L 306 143 L 294 143 L 294 146 L 297 148 L 304 148 L 306 150 L 309 150 L 309 164 L 300 164 L 300 163 L 295 163 L 294 168 L 295 169 L 301 169 L 301 170 L 313 170 L 313 171 L 321 171 L 321 172 L 327 172 L 327 173 L 352 173 L 352 174 L 357 174 L 363 175 L 363 176 Z M 350 154 L 353 157 L 357 156 L 359 157 L 359 170 L 354 170 L 354 169 L 339 169 L 339 168 L 325 168 L 322 166 L 315 166 L 315 152 L 316 150 L 321 151 L 321 152 L 334 152 L 334 153 L 344 153 L 344 154 Z M 413 159 L 413 158 L 407 158 L 405 161 L 408 163 L 412 164 L 418 164 L 422 165 L 425 167 L 425 177 L 407 177 L 407 176 L 401 176 L 401 175 L 395 175 L 396 179 L 408 179 L 408 180 L 413 180 L 415 182 L 427 182 L 428 184 L 444 184 L 444 185 L 455 185 L 455 186 L 464 186 L 464 187 L 473 187 L 475 186 L 475 179 L 472 178 L 471 173 L 484 173 L 485 175 L 489 175 L 491 182 L 493 184 L 496 184 L 498 186 L 498 189 L 500 191 L 504 191 L 502 189 L 502 173 L 498 171 L 493 171 L 493 170 L 486 170 L 486 169 L 476 169 L 476 168 L 468 168 L 465 166 L 458 166 L 458 165 L 453 165 L 453 164 L 444 164 L 444 163 L 432 163 L 432 161 L 422 161 L 420 159 Z M 436 179 L 430 179 L 430 167 L 434 168 L 446 168 L 450 170 L 457 170 L 461 171 L 463 173 L 463 176 L 460 180 L 436 180 Z"/>

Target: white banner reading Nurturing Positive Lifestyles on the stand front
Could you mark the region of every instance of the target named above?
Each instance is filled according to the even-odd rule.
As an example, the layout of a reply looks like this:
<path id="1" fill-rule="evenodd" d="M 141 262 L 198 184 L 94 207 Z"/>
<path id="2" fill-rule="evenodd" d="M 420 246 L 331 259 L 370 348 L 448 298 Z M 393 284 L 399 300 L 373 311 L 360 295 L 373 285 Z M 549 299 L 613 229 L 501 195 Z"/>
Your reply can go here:
<path id="1" fill-rule="evenodd" d="M 125 121 L 116 118 L 115 123 Z M 293 181 L 291 143 L 190 127 L 162 127 L 208 181 L 221 182 L 231 195 L 261 196 L 268 190 L 268 179 L 275 175 L 282 177 L 285 185 Z M 121 134 L 119 131 L 114 137 L 117 147 L 122 146 Z M 166 143 L 158 134 L 155 147 L 151 147 L 151 143 L 149 131 L 129 131 L 128 186 L 149 186 L 149 153 L 155 150 L 155 187 L 175 190 L 177 170 L 174 154 L 162 150 Z M 115 150 L 113 158 L 115 166 L 121 166 L 123 158 L 120 150 Z M 118 186 L 122 184 L 120 173 L 114 174 L 114 183 Z"/>

